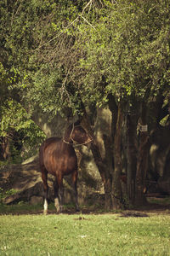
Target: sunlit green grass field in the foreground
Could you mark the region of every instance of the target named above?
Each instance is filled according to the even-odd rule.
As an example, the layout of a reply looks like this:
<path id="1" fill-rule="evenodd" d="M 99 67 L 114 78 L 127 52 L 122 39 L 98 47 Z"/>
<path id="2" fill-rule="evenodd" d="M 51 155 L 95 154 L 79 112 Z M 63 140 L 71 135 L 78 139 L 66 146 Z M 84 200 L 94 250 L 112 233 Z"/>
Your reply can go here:
<path id="1" fill-rule="evenodd" d="M 170 255 L 170 212 L 142 216 L 3 214 L 0 255 Z"/>

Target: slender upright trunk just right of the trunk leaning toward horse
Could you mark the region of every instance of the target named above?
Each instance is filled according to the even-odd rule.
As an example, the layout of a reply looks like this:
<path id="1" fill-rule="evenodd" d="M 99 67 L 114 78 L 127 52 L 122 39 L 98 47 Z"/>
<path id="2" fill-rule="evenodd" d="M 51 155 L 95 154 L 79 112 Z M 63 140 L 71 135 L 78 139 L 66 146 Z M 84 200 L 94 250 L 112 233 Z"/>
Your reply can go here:
<path id="1" fill-rule="evenodd" d="M 121 209 L 122 204 L 122 186 L 121 186 L 121 172 L 122 172 L 122 106 L 119 103 L 117 121 L 116 121 L 116 133 L 114 139 L 114 174 L 112 182 L 112 201 L 113 209 Z"/>

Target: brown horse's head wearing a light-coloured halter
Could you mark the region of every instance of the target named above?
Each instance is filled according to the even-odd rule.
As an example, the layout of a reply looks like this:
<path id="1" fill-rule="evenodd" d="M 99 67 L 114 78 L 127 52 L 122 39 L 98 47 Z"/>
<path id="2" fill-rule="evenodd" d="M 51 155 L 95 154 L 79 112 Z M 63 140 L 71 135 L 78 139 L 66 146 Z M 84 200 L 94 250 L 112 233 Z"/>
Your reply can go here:
<path id="1" fill-rule="evenodd" d="M 84 145 L 90 143 L 92 140 L 92 137 L 89 136 L 88 131 L 82 125 L 72 124 L 65 132 L 65 143 Z"/>

